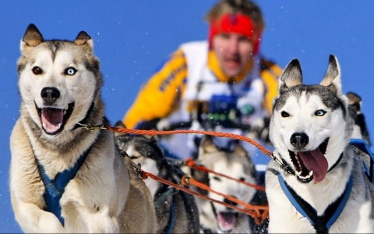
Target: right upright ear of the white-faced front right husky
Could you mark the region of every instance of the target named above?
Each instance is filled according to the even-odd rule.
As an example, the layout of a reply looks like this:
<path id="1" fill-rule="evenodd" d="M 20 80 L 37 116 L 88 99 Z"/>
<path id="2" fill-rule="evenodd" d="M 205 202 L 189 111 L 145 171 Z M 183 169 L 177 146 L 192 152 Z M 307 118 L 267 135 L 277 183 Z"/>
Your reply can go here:
<path id="1" fill-rule="evenodd" d="M 321 81 L 321 85 L 329 87 L 338 96 L 343 95 L 342 92 L 342 81 L 340 75 L 340 65 L 338 58 L 330 54 L 329 56 L 329 66 L 327 68 L 325 77 Z"/>

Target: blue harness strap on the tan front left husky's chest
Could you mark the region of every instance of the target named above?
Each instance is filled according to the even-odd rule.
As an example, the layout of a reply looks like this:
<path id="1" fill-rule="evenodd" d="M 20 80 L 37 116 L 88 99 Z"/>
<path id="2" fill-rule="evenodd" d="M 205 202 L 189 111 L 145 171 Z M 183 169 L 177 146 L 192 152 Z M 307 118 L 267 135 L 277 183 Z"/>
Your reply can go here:
<path id="1" fill-rule="evenodd" d="M 61 206 L 60 206 L 60 199 L 65 192 L 65 187 L 69 183 L 71 179 L 75 177 L 79 168 L 82 166 L 84 160 L 86 159 L 88 152 L 91 150 L 91 147 L 87 149 L 81 156 L 79 156 L 77 162 L 74 166 L 70 169 L 66 169 L 61 173 L 58 173 L 54 179 L 50 179 L 45 174 L 45 169 L 43 165 L 38 163 L 38 167 L 40 170 L 41 180 L 45 186 L 44 192 L 44 201 L 45 201 L 45 211 L 53 213 L 62 226 L 64 226 L 64 219 L 61 216 Z"/>

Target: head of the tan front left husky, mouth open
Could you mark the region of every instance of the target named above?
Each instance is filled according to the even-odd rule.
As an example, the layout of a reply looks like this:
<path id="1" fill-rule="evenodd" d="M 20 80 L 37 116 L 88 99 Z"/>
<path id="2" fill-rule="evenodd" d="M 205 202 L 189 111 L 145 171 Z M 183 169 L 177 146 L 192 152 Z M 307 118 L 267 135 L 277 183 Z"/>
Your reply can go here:
<path id="1" fill-rule="evenodd" d="M 20 50 L 17 71 L 21 111 L 37 137 L 68 139 L 66 132 L 84 119 L 101 123 L 103 80 L 93 41 L 86 32 L 79 32 L 74 41 L 44 40 L 31 23 Z M 96 112 L 89 117 L 93 108 Z"/>

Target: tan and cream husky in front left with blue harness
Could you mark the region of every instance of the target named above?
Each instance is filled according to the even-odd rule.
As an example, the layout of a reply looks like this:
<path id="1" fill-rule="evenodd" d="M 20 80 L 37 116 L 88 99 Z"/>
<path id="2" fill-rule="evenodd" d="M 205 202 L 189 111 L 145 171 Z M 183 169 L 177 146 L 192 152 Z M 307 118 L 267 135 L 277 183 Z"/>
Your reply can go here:
<path id="1" fill-rule="evenodd" d="M 10 195 L 25 233 L 154 233 L 151 193 L 106 125 L 93 40 L 44 40 L 29 24 L 17 61 L 20 117 Z"/>

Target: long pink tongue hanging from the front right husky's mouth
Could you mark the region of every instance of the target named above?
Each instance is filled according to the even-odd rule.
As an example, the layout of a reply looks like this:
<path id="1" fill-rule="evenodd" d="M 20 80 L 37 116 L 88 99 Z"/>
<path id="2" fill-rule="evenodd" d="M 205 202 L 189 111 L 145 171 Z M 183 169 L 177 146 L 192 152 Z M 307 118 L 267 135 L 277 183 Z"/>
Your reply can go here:
<path id="1" fill-rule="evenodd" d="M 325 179 L 329 164 L 325 156 L 323 156 L 323 154 L 318 149 L 298 153 L 305 167 L 309 171 L 313 170 L 313 178 L 315 183 L 318 183 Z"/>

